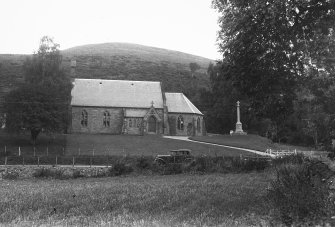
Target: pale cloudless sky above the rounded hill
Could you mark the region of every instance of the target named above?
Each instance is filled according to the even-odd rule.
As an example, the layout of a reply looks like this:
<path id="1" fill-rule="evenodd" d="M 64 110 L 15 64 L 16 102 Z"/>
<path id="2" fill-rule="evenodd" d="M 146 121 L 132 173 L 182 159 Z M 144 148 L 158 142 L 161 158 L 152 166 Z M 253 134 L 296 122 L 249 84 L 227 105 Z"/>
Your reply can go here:
<path id="1" fill-rule="evenodd" d="M 0 0 L 0 54 L 127 42 L 220 59 L 211 0 Z"/>

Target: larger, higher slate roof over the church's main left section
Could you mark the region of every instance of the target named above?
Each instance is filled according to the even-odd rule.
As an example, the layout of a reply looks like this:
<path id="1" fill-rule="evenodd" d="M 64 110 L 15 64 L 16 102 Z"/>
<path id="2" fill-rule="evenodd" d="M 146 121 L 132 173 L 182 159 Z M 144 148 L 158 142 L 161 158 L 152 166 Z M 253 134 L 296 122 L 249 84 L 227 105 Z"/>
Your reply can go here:
<path id="1" fill-rule="evenodd" d="M 72 106 L 163 108 L 160 82 L 75 79 Z"/>

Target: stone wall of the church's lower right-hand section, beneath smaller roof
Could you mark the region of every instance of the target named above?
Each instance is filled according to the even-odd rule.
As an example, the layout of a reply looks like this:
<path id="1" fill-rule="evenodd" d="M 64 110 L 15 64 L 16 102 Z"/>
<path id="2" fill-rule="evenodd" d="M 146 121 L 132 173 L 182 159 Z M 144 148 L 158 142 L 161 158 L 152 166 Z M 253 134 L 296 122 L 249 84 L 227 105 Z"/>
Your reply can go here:
<path id="1" fill-rule="evenodd" d="M 183 130 L 178 129 L 178 117 L 184 119 Z M 199 128 L 197 127 L 197 119 L 200 118 Z M 202 136 L 204 134 L 203 116 L 197 114 L 178 114 L 169 113 L 170 134 L 177 136 Z"/>

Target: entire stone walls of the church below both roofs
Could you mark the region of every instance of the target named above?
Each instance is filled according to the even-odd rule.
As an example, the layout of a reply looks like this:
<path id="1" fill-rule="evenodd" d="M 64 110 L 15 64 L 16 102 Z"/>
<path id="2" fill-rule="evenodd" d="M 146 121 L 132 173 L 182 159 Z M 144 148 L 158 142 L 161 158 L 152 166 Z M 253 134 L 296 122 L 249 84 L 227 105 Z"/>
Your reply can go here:
<path id="1" fill-rule="evenodd" d="M 82 111 L 86 110 L 88 119 L 87 126 L 81 124 L 82 121 Z M 101 107 L 72 107 L 72 133 L 106 133 L 106 134 L 136 134 L 143 135 L 148 132 L 147 122 L 143 121 L 143 113 L 149 111 L 149 109 L 129 109 L 134 114 L 134 116 L 124 116 L 125 111 L 128 109 L 123 108 L 101 108 Z M 145 111 L 144 111 L 145 110 Z M 110 124 L 105 127 L 103 124 L 103 117 L 105 111 L 110 113 Z M 168 126 L 164 126 L 164 112 L 162 109 L 156 109 L 161 122 L 157 121 L 156 133 L 163 134 L 164 129 L 168 130 L 170 135 L 177 136 L 202 136 L 206 133 L 203 116 L 197 114 L 178 114 L 169 113 L 168 114 Z M 143 115 L 143 116 L 141 116 Z M 178 129 L 178 117 L 182 116 L 184 119 L 184 128 L 182 130 Z M 129 127 L 129 119 L 142 119 L 140 127 Z M 200 125 L 197 127 L 200 118 Z M 124 127 L 124 128 L 123 128 Z"/>

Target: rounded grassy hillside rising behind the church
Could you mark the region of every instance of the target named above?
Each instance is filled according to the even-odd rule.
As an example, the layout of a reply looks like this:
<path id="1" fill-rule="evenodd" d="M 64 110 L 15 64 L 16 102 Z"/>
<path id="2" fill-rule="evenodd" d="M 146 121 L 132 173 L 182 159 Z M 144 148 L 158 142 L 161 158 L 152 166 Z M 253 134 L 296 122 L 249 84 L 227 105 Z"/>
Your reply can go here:
<path id="1" fill-rule="evenodd" d="M 72 78 L 161 81 L 166 91 L 183 92 L 191 100 L 208 87 L 207 67 L 212 61 L 178 51 L 129 43 L 104 43 L 62 51 L 63 67 Z M 23 82 L 28 55 L 0 55 L 0 108 L 3 96 Z M 76 62 L 71 67 L 71 61 Z M 192 77 L 189 63 L 201 66 Z"/>

